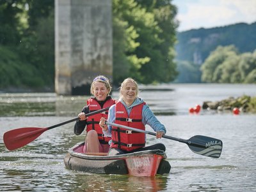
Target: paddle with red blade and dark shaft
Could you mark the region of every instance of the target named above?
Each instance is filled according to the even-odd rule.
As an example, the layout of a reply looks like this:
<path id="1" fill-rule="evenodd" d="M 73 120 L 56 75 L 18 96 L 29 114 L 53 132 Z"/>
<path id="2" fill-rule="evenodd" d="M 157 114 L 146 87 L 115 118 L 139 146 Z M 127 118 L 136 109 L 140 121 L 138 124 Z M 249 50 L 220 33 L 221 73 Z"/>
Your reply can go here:
<path id="1" fill-rule="evenodd" d="M 96 110 L 94 112 L 91 112 L 89 114 L 86 114 L 86 117 L 89 117 L 94 114 L 99 114 L 100 112 L 104 112 L 108 110 L 107 108 L 102 108 L 100 110 Z M 56 128 L 58 126 L 62 126 L 63 124 L 68 124 L 69 122 L 77 121 L 79 117 L 76 117 L 74 119 L 70 119 L 68 121 L 60 122 L 58 124 L 54 124 L 52 126 L 49 126 L 47 128 L 18 128 L 18 129 L 12 129 L 10 131 L 7 131 L 4 133 L 4 145 L 5 147 L 12 151 L 14 149 L 19 149 L 20 147 L 23 147 L 30 142 L 33 142 L 36 138 L 38 138 L 44 131 L 47 131 L 49 129 Z"/>

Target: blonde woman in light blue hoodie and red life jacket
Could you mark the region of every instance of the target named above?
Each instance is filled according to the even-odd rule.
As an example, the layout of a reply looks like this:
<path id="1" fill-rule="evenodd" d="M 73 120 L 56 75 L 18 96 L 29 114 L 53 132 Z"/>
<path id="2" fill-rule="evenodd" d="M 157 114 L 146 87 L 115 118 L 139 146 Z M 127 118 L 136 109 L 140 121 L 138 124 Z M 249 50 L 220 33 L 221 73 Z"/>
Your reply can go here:
<path id="1" fill-rule="evenodd" d="M 107 126 L 106 119 L 100 119 L 100 127 L 104 135 L 111 136 L 109 155 L 125 154 L 149 149 L 165 151 L 163 144 L 145 147 L 145 133 L 129 131 L 124 128 Z M 161 124 L 148 105 L 138 97 L 138 84 L 132 78 L 126 78 L 120 87 L 120 99 L 109 108 L 108 122 L 115 122 L 124 126 L 145 130 L 145 125 L 156 131 L 156 138 L 162 138 L 166 129 Z"/>

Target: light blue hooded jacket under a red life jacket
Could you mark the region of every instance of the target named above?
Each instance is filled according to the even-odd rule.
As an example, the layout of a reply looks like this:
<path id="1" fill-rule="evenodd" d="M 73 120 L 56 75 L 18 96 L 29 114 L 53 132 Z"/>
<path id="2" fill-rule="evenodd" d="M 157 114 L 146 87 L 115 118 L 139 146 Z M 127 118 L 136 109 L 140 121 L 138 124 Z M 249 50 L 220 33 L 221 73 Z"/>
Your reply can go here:
<path id="1" fill-rule="evenodd" d="M 132 105 L 127 107 L 127 105 L 125 104 L 125 102 L 122 99 L 120 99 L 119 101 L 121 101 L 121 103 L 123 103 L 124 107 L 127 110 L 128 115 L 130 115 L 132 107 L 134 107 L 136 105 L 140 105 L 141 103 L 144 102 L 141 98 L 136 98 L 136 100 L 134 100 Z M 109 108 L 108 122 L 115 122 L 115 118 L 116 118 L 115 107 L 116 107 L 116 105 L 112 105 Z M 148 105 L 144 105 L 142 108 L 142 123 L 144 125 L 148 124 L 151 128 L 154 129 L 154 131 L 163 131 L 164 134 L 166 133 L 166 129 L 164 128 L 164 125 L 158 121 L 158 119 L 153 114 L 152 110 L 150 110 Z M 111 137 L 111 131 L 112 131 L 112 126 L 108 125 L 108 129 L 106 131 L 103 131 L 103 133 L 107 137 Z"/>

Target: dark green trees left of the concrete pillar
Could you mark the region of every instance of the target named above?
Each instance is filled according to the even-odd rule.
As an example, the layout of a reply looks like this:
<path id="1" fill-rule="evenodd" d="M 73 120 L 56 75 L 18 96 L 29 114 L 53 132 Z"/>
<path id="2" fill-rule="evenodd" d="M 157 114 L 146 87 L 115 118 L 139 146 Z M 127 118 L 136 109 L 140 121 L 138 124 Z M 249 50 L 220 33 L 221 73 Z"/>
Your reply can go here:
<path id="1" fill-rule="evenodd" d="M 53 0 L 0 1 L 1 87 L 54 87 L 53 13 Z"/>

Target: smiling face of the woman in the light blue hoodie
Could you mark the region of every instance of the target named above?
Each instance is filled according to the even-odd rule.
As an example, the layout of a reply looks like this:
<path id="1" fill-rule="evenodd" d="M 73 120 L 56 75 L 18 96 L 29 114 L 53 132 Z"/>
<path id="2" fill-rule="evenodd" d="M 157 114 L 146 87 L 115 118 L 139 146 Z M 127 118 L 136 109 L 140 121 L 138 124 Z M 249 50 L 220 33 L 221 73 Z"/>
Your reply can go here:
<path id="1" fill-rule="evenodd" d="M 138 88 L 133 82 L 127 82 L 121 89 L 122 99 L 125 103 L 133 103 L 138 94 Z"/>

